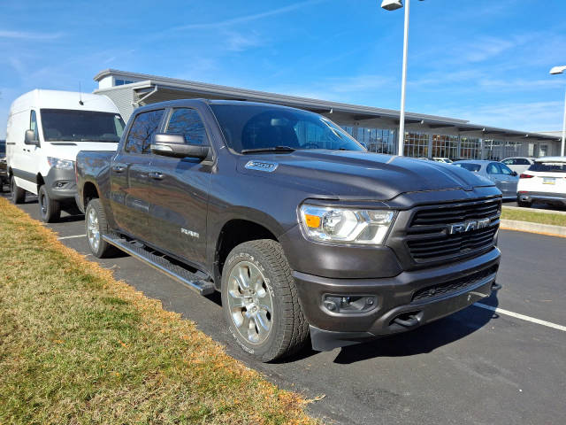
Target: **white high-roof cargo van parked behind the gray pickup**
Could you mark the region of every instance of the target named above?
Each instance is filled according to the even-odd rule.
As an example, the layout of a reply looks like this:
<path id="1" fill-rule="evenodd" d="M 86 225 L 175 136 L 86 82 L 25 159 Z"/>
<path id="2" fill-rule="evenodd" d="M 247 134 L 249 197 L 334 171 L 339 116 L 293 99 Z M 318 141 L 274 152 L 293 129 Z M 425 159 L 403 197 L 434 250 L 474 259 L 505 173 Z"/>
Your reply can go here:
<path id="1" fill-rule="evenodd" d="M 6 156 L 11 197 L 38 196 L 43 221 L 59 219 L 76 194 L 79 151 L 115 151 L 124 131 L 118 108 L 105 96 L 35 89 L 11 104 Z"/>

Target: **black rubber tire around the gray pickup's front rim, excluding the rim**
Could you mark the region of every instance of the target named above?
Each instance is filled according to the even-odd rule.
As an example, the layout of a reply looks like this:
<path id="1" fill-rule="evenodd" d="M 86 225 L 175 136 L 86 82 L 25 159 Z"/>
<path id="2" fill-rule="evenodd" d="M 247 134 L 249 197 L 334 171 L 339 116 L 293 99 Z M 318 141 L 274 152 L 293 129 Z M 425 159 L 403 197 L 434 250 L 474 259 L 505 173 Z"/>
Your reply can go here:
<path id="1" fill-rule="evenodd" d="M 261 271 L 264 275 L 264 287 L 266 286 L 271 294 L 273 310 L 270 314 L 271 328 L 264 342 L 259 344 L 252 344 L 241 335 L 229 307 L 229 276 L 242 262 L 251 263 Z M 230 333 L 245 352 L 264 362 L 288 357 L 298 352 L 309 337 L 309 325 L 302 313 L 291 273 L 291 267 L 280 243 L 270 239 L 241 243 L 230 252 L 224 265 L 222 307 Z M 247 308 L 241 307 L 242 315 Z M 254 327 L 253 323 L 251 327 Z"/>

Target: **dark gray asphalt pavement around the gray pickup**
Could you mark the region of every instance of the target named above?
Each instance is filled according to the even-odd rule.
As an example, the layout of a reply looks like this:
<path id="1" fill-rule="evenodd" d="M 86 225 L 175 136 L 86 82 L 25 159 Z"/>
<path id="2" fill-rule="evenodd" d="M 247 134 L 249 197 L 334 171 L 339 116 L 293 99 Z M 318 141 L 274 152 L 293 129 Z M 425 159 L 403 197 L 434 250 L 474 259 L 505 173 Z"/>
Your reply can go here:
<path id="1" fill-rule="evenodd" d="M 4 194 L 5 195 L 5 194 Z M 27 197 L 21 209 L 37 219 Z M 73 212 L 72 212 L 73 213 Z M 310 412 L 344 424 L 563 424 L 566 422 L 566 239 L 500 232 L 496 295 L 502 313 L 472 305 L 409 333 L 333 352 L 305 349 L 275 364 L 250 360 L 232 342 L 220 298 L 199 297 L 126 255 L 95 259 L 83 216 L 48 225 L 65 245 L 181 313 L 233 357 L 287 390 L 319 398 Z M 77 236 L 77 237 L 75 237 Z M 525 320 L 521 314 L 528 316 Z M 542 321 L 539 324 L 534 321 Z M 562 325 L 552 328 L 546 322 Z"/>

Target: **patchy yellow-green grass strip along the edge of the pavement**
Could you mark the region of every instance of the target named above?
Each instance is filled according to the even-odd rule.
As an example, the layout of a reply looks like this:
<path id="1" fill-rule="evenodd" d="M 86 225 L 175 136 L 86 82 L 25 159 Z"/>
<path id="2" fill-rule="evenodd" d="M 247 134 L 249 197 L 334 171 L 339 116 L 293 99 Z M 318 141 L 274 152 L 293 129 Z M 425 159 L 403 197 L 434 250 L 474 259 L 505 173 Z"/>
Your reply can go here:
<path id="1" fill-rule="evenodd" d="M 0 423 L 318 423 L 0 198 Z"/>

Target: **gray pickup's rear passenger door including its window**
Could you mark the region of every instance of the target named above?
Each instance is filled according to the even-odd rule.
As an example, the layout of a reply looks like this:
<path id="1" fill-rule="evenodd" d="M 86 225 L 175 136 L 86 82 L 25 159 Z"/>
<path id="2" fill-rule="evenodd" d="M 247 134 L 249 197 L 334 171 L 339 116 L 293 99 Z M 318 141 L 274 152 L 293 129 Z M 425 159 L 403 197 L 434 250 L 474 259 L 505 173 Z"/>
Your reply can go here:
<path id="1" fill-rule="evenodd" d="M 126 141 L 111 161 L 111 207 L 119 228 L 150 242 L 149 204 L 151 139 L 163 120 L 164 109 L 138 113 Z"/>

